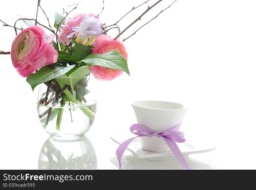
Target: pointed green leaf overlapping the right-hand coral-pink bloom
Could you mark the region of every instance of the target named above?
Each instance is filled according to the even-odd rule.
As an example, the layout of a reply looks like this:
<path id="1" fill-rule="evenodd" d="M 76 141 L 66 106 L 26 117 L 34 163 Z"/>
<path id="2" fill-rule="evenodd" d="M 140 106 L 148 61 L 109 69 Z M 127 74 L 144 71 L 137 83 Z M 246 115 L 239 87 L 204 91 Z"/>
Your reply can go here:
<path id="1" fill-rule="evenodd" d="M 78 61 L 77 63 L 85 63 L 89 66 L 98 65 L 109 69 L 117 69 L 130 75 L 126 59 L 117 51 L 110 51 L 104 54 L 90 54 L 85 59 Z"/>

